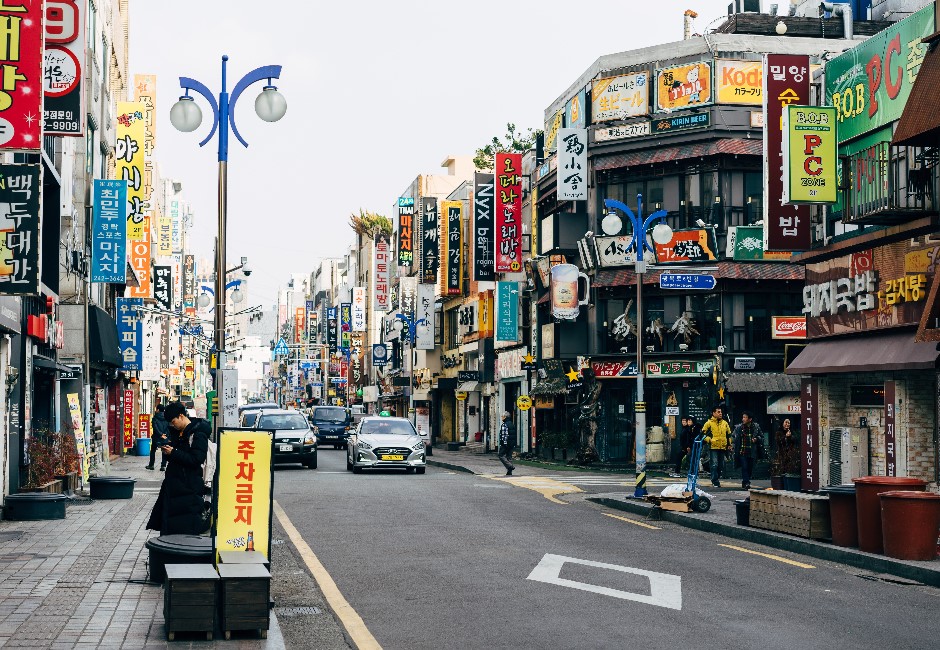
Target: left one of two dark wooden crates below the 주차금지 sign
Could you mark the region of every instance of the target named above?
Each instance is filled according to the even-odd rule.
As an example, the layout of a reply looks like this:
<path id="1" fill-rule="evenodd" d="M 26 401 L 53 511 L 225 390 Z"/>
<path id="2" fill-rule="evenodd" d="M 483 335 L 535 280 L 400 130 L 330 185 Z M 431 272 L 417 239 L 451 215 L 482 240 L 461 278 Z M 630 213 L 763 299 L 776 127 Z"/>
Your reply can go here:
<path id="1" fill-rule="evenodd" d="M 205 632 L 212 640 L 219 599 L 219 574 L 211 564 L 167 564 L 163 583 L 166 638 L 176 632 Z"/>

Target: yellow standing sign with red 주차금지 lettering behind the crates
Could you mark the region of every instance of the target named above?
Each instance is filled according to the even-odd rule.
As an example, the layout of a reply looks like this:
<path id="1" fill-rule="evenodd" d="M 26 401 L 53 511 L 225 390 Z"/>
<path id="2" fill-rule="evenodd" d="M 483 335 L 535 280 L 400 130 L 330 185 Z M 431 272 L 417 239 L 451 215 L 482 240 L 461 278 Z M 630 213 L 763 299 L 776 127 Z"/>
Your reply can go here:
<path id="1" fill-rule="evenodd" d="M 271 434 L 219 432 L 215 549 L 258 551 L 271 539 Z"/>

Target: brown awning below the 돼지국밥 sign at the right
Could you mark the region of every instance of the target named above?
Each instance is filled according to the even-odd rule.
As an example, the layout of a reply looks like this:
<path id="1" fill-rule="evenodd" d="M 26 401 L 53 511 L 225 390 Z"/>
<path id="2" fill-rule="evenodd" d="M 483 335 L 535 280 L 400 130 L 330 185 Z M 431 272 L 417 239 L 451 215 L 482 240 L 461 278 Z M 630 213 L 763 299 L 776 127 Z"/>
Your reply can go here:
<path id="1" fill-rule="evenodd" d="M 928 370 L 936 343 L 917 343 L 914 332 L 812 341 L 787 368 L 788 375 L 828 375 L 880 370 Z"/>

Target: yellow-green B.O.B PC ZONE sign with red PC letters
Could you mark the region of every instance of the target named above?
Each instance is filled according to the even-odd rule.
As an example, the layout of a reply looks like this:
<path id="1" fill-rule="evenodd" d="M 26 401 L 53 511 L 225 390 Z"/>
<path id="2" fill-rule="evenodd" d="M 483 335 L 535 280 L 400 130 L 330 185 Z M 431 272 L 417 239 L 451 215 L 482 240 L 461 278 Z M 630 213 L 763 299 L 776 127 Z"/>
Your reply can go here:
<path id="1" fill-rule="evenodd" d="M 838 199 L 836 109 L 790 105 L 783 112 L 783 202 Z"/>

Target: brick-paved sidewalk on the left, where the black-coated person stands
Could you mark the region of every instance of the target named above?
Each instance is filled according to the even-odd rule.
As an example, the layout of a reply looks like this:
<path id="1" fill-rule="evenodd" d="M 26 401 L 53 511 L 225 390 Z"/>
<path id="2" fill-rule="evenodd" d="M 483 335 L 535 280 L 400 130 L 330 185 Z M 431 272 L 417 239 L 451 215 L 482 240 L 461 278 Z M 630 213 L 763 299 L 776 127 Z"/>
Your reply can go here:
<path id="1" fill-rule="evenodd" d="M 92 501 L 78 494 L 65 519 L 0 521 L 0 647 L 187 648 L 202 635 L 166 641 L 163 587 L 147 582 L 144 528 L 163 474 L 146 458 L 111 463 L 112 476 L 137 479 L 132 499 Z M 233 633 L 212 644 L 283 648 L 274 612 L 266 640 Z"/>

